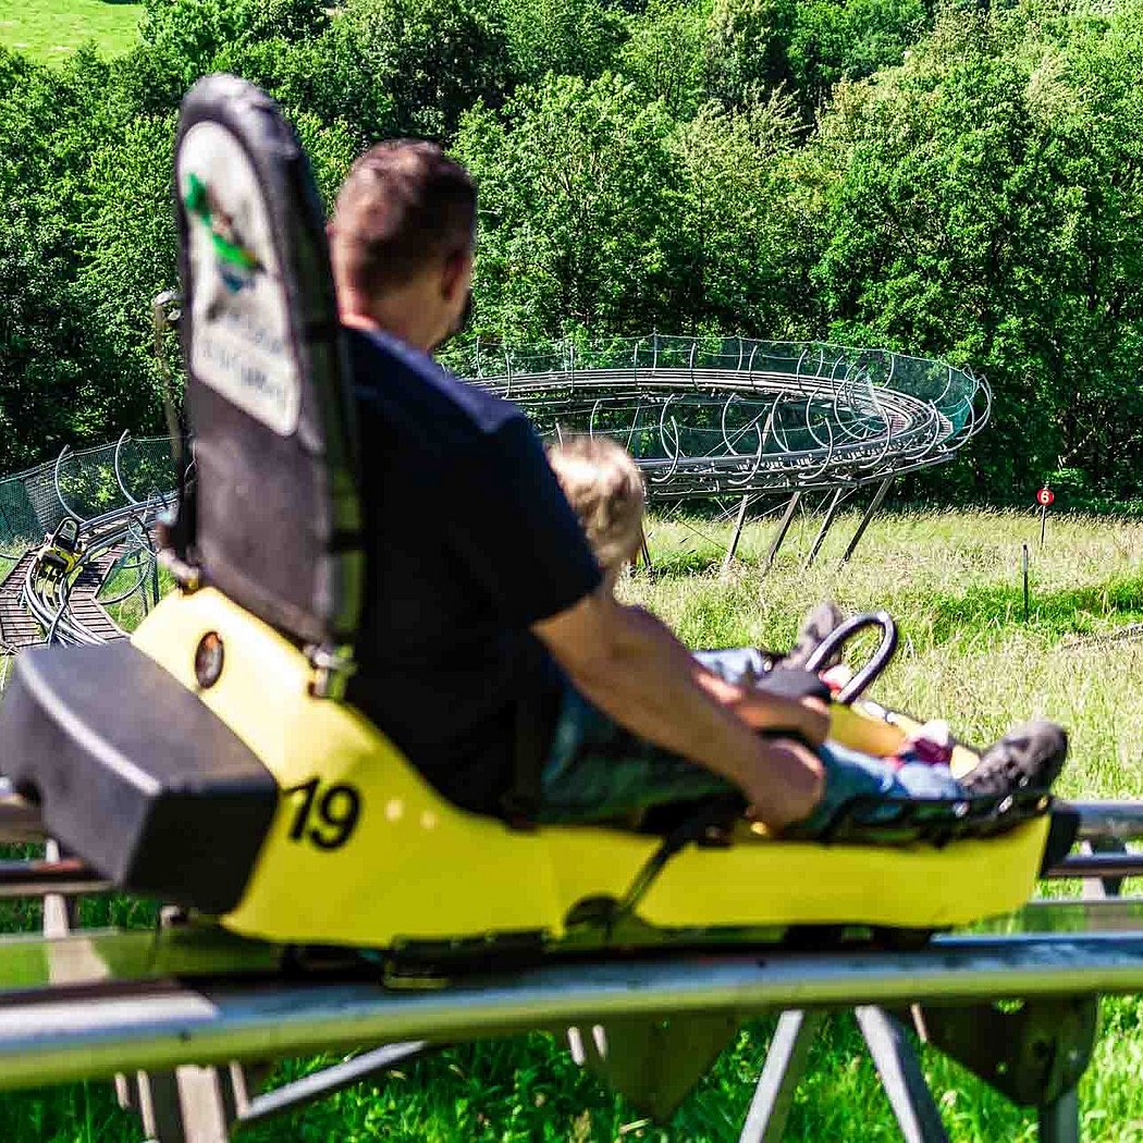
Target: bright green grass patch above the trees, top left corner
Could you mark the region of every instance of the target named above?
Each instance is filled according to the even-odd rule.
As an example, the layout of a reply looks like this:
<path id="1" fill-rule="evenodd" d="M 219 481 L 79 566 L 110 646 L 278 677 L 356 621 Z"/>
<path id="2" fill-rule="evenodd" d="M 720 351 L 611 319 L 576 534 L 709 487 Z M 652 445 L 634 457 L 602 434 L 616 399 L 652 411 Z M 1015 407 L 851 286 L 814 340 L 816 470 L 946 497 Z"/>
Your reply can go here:
<path id="1" fill-rule="evenodd" d="M 0 0 L 0 45 L 43 63 L 87 42 L 113 56 L 135 42 L 142 15 L 143 5 L 113 0 Z"/>

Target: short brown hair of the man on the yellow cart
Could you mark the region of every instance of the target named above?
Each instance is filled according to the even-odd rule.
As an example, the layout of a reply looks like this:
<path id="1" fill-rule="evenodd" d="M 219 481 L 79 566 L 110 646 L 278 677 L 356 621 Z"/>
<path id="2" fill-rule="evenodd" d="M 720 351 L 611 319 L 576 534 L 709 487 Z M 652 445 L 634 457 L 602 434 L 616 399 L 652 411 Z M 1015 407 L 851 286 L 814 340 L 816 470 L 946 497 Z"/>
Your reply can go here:
<path id="1" fill-rule="evenodd" d="M 472 248 L 477 184 L 435 143 L 389 139 L 350 168 L 329 226 L 334 266 L 370 297 Z"/>

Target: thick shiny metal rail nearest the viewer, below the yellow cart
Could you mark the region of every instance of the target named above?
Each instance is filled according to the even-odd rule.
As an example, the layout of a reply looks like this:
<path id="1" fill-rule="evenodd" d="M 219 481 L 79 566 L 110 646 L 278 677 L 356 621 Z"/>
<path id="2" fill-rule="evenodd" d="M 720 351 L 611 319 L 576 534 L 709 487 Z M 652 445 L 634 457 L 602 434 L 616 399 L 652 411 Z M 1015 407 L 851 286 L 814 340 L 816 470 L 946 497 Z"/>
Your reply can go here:
<path id="1" fill-rule="evenodd" d="M 82 938 L 49 942 L 61 961 Z M 617 1018 L 1143 991 L 1143 933 L 942 938 L 918 952 L 553 965 L 401 992 L 352 981 L 56 986 L 0 1007 L 0 1088 Z"/>

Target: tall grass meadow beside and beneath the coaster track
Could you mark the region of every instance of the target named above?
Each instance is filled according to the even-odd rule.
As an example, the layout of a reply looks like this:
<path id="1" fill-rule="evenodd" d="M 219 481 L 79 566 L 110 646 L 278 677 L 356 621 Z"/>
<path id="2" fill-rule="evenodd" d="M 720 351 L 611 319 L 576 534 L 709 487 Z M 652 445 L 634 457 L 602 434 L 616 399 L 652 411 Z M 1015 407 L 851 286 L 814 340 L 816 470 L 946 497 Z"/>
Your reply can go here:
<path id="1" fill-rule="evenodd" d="M 840 521 L 818 566 L 802 572 L 797 557 L 813 535 L 813 523 L 804 521 L 765 578 L 759 561 L 768 527 L 750 528 L 742 560 L 722 578 L 720 545 L 728 526 L 660 521 L 652 533 L 656 573 L 634 576 L 623 591 L 669 618 L 694 646 L 783 646 L 806 607 L 826 596 L 853 609 L 888 607 L 903 639 L 878 697 L 918 714 L 944 714 L 975 743 L 1047 714 L 1072 733 L 1063 793 L 1143 796 L 1143 641 L 1093 640 L 1143 621 L 1143 523 L 1060 519 L 1040 552 L 1031 515 L 887 515 L 870 530 L 858 558 L 839 570 L 837 558 L 855 522 Z M 1028 622 L 1020 584 L 1023 542 L 1032 542 Z M 122 920 L 121 908 L 113 905 L 111 916 Z M 93 922 L 109 917 L 106 902 L 86 903 L 85 910 Z M 8 916 L 13 924 L 37 920 L 34 911 Z M 1141 1140 L 1143 1004 L 1109 1000 L 1103 1015 L 1103 1034 L 1081 1087 L 1084 1137 Z M 721 1143 L 737 1138 L 772 1028 L 768 1021 L 745 1028 L 665 1127 L 637 1119 L 551 1040 L 533 1036 L 441 1053 L 242 1137 Z M 857 1047 L 848 1017 L 828 1024 L 814 1048 L 813 1073 L 798 1093 L 789 1138 L 900 1137 Z M 278 1078 L 315 1064 L 283 1065 Z M 953 1140 L 1034 1138 L 1030 1113 L 958 1066 L 926 1054 L 925 1068 Z M 139 1137 L 105 1084 L 0 1098 L 0 1140 L 11 1143 Z"/>

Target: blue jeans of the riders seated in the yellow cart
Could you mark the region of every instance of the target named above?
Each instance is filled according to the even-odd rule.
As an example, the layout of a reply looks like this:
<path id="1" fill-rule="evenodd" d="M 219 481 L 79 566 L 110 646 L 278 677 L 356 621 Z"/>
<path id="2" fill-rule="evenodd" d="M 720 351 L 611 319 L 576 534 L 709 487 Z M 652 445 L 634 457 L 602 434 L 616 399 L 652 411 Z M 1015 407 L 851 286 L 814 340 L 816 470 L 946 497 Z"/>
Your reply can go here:
<path id="1" fill-rule="evenodd" d="M 742 682 L 758 668 L 751 647 L 700 652 L 710 670 Z M 838 809 L 854 798 L 954 799 L 965 796 L 948 766 L 906 762 L 896 767 L 879 758 L 833 743 L 817 754 L 825 764 L 822 800 L 798 832 L 824 829 Z M 737 788 L 704 766 L 656 746 L 624 729 L 593 706 L 569 682 L 541 782 L 539 821 L 591 822 L 621 817 L 676 801 L 692 801 L 735 792 Z M 878 818 L 877 807 L 865 818 Z M 892 817 L 889 807 L 886 816 Z"/>

